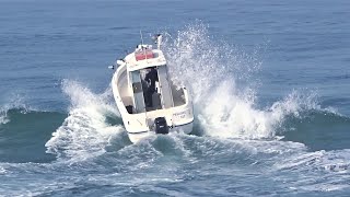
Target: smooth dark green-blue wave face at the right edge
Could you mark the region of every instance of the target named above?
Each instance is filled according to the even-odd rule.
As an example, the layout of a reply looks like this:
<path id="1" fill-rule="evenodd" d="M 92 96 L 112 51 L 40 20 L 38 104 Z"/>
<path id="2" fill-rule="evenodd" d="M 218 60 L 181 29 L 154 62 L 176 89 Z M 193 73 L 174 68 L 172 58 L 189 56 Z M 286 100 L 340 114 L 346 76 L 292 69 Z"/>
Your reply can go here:
<path id="1" fill-rule="evenodd" d="M 288 116 L 280 131 L 283 140 L 306 144 L 311 151 L 350 148 L 350 118 L 327 111 L 306 111 Z"/>

